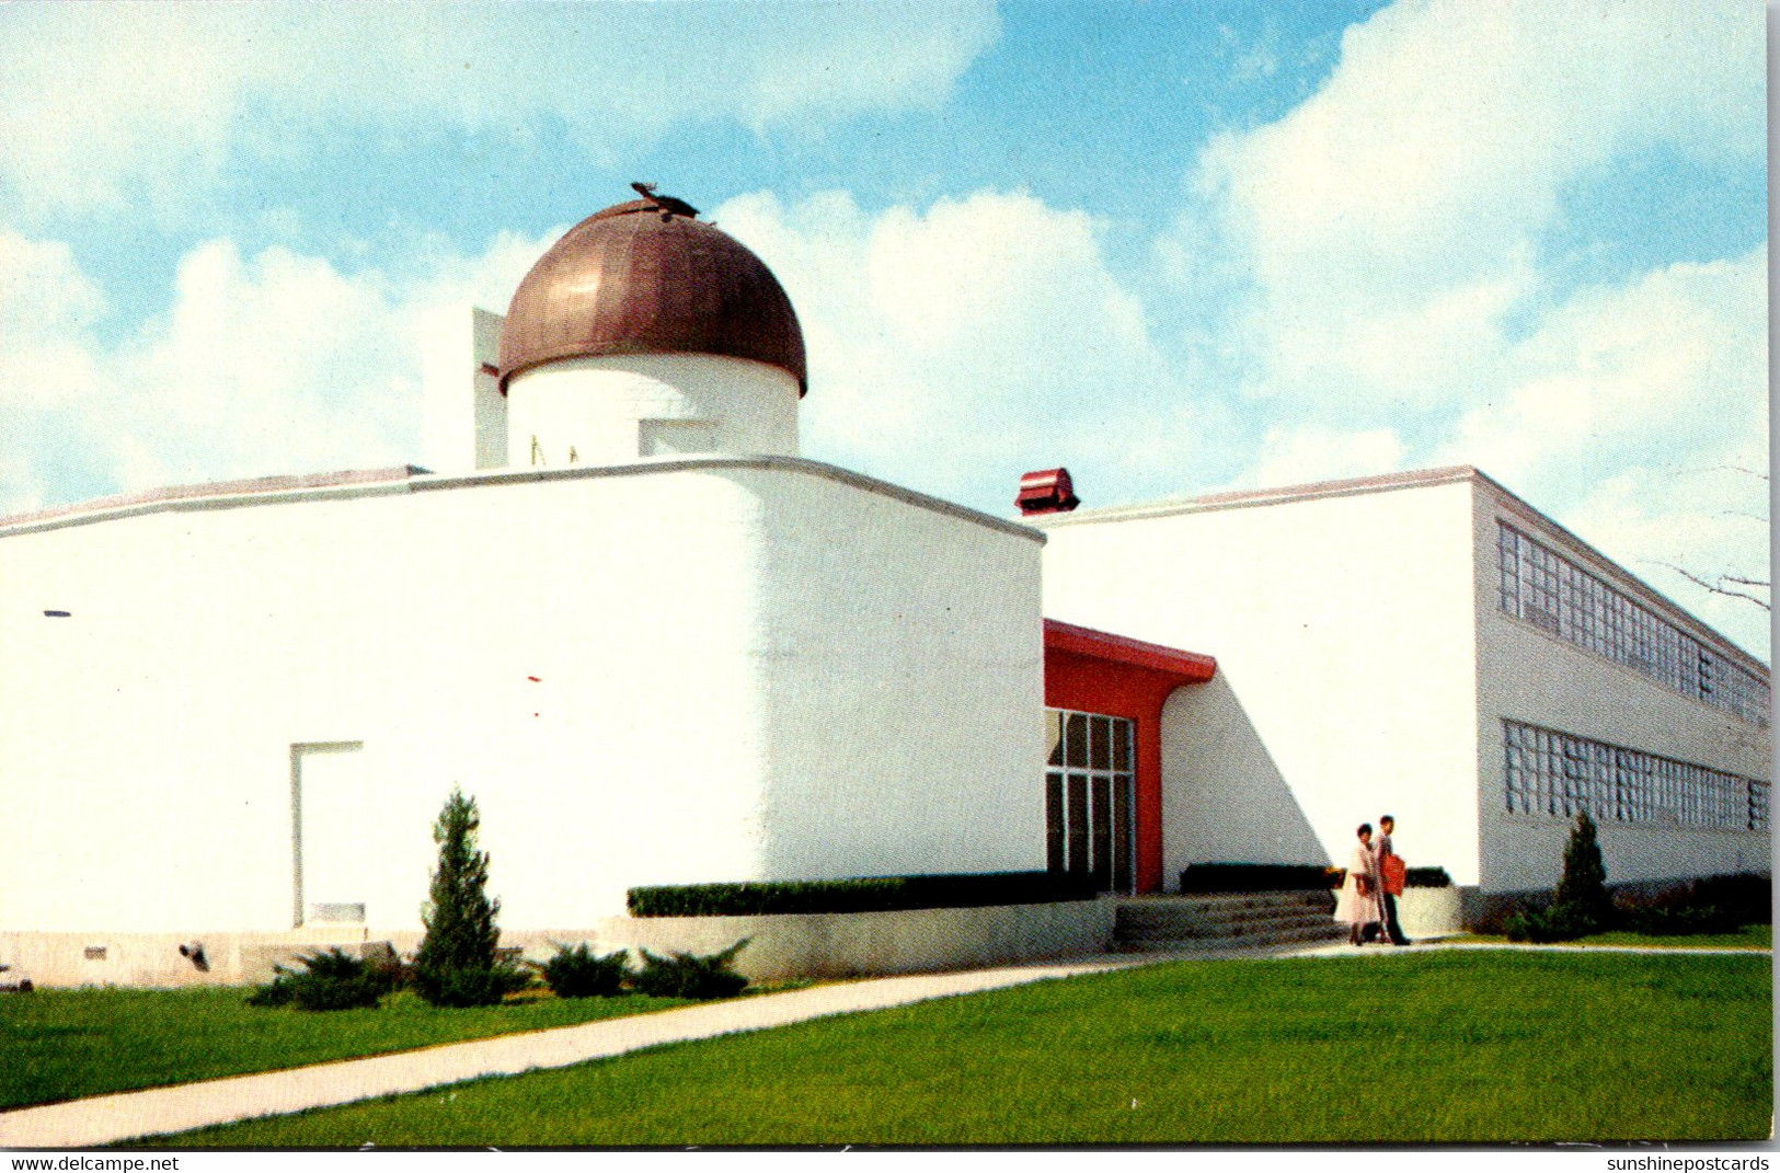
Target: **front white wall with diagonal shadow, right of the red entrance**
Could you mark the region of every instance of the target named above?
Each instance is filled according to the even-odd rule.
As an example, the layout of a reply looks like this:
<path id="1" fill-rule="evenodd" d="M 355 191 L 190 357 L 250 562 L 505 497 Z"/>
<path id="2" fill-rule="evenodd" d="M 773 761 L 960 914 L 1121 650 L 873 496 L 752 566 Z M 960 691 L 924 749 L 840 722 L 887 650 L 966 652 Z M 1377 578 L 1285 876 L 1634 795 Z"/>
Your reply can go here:
<path id="1" fill-rule="evenodd" d="M 1038 523 L 1045 614 L 1218 657 L 1164 710 L 1164 876 L 1346 863 L 1397 817 L 1413 865 L 1477 883 L 1470 484 Z M 1294 856 L 1287 860 L 1287 856 Z"/>

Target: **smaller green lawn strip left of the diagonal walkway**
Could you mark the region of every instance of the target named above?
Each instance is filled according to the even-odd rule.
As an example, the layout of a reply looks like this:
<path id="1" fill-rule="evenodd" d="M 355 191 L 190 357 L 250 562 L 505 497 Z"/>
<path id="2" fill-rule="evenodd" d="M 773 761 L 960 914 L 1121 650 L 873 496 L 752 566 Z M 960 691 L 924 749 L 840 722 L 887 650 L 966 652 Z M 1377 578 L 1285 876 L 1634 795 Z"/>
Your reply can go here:
<path id="1" fill-rule="evenodd" d="M 438 1009 L 395 993 L 379 1009 L 256 1009 L 247 990 L 37 990 L 0 997 L 0 1109 L 105 1091 L 328 1063 L 680 1006 L 675 999 L 541 997 Z"/>

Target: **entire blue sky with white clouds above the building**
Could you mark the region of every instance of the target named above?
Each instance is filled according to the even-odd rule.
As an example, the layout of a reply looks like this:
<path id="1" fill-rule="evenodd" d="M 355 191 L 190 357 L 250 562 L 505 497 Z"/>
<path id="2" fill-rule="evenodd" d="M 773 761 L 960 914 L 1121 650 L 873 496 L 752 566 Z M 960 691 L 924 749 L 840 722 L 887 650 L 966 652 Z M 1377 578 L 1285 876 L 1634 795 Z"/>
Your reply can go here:
<path id="1" fill-rule="evenodd" d="M 1768 653 L 1755 4 L 0 7 L 0 513 L 424 463 L 429 322 L 655 180 L 805 454 L 1007 513 L 1476 463 Z"/>

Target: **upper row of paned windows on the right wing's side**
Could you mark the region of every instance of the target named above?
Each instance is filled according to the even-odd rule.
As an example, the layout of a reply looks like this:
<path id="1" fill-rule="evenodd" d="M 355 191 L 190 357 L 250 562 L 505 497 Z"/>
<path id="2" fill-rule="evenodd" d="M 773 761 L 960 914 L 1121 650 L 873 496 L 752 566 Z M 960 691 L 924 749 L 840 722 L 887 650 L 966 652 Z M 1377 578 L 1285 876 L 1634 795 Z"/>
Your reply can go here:
<path id="1" fill-rule="evenodd" d="M 1768 680 L 1725 660 L 1508 522 L 1497 523 L 1495 546 L 1504 612 L 1768 728 L 1773 707 Z"/>

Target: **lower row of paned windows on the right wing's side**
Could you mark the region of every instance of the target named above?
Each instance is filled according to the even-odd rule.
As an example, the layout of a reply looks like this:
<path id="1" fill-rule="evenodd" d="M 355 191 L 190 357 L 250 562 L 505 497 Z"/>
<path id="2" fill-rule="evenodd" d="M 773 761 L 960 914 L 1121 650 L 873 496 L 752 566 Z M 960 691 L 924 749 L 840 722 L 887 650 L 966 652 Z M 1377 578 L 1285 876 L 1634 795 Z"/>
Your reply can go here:
<path id="1" fill-rule="evenodd" d="M 1518 815 L 1766 831 L 1768 783 L 1641 749 L 1502 721 L 1504 797 Z"/>

